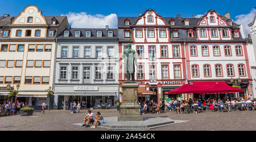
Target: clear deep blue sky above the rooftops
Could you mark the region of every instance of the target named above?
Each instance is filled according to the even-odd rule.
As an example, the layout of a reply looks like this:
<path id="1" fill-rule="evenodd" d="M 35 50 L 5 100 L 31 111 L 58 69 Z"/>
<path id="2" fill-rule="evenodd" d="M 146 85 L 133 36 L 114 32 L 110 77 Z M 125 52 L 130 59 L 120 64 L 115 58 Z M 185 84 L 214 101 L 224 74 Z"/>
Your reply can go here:
<path id="1" fill-rule="evenodd" d="M 39 10 L 43 12 L 45 16 L 58 16 L 69 15 L 77 16 L 80 12 L 84 14 L 80 16 L 98 17 L 98 19 L 104 18 L 110 14 L 116 16 L 138 16 L 140 5 L 141 13 L 148 8 L 154 9 L 160 16 L 176 16 L 181 14 L 181 17 L 192 17 L 194 15 L 205 14 L 210 9 L 216 10 L 220 15 L 230 12 L 230 16 L 233 20 L 237 20 L 236 16 L 243 16 L 249 14 L 256 6 L 255 0 L 243 0 L 243 1 L 59 1 L 59 0 L 44 0 L 44 1 L 32 1 L 32 0 L 0 0 L 0 16 L 3 14 L 10 14 L 11 16 L 19 15 L 19 12 L 28 5 L 36 5 Z M 71 13 L 70 13 L 71 12 Z M 97 14 L 101 14 L 100 16 Z M 253 14 L 251 14 L 253 15 Z M 112 15 L 113 16 L 113 15 Z M 88 17 L 88 18 L 90 18 Z M 79 17 L 80 18 L 80 17 Z M 250 19 L 250 18 L 249 18 Z M 247 18 L 247 22 L 249 21 Z M 69 21 L 73 23 L 75 21 Z M 81 21 L 80 21 L 81 22 Z M 242 21 L 241 21 L 242 23 Z M 241 24 L 240 23 L 240 24 Z M 246 23 L 246 22 L 245 22 Z M 73 24 L 75 25 L 75 24 Z M 78 25 L 79 26 L 79 25 Z"/>

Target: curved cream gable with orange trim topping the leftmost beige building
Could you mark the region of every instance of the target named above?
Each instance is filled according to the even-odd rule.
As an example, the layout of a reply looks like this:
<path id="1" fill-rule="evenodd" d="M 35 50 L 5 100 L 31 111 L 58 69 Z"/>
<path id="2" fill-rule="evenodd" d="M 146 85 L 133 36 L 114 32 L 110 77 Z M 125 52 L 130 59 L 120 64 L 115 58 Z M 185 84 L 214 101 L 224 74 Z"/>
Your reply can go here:
<path id="1" fill-rule="evenodd" d="M 34 5 L 27 6 L 20 14 L 14 19 L 14 24 L 47 24 L 46 19 L 39 11 L 38 7 Z"/>

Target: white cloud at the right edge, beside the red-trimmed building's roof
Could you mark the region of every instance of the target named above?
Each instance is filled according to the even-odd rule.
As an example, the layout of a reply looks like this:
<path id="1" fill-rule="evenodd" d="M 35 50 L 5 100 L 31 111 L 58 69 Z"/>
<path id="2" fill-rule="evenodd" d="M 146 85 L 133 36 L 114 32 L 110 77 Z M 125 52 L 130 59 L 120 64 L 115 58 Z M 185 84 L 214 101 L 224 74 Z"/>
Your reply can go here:
<path id="1" fill-rule="evenodd" d="M 250 28 L 248 27 L 248 24 L 250 24 L 253 21 L 255 14 L 255 10 L 252 9 L 249 14 L 241 14 L 237 15 L 235 17 L 236 20 L 234 20 L 237 24 L 242 24 L 243 26 L 243 32 L 246 34 L 246 29 L 247 32 L 250 33 Z"/>

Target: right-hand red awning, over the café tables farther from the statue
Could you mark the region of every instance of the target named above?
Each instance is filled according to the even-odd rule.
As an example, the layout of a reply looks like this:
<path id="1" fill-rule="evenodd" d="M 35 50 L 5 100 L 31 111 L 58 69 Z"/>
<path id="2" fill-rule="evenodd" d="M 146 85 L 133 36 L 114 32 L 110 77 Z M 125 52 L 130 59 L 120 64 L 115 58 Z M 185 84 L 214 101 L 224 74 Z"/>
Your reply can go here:
<path id="1" fill-rule="evenodd" d="M 201 87 L 209 91 L 209 94 L 213 93 L 235 93 L 243 92 L 243 89 L 230 87 L 224 81 L 202 81 L 202 82 L 192 82 L 195 87 Z"/>

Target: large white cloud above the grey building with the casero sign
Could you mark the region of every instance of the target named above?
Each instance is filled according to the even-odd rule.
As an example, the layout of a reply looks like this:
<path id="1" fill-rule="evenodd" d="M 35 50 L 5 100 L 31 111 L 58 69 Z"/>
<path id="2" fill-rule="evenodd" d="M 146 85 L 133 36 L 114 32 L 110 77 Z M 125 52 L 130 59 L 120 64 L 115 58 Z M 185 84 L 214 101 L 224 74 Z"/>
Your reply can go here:
<path id="1" fill-rule="evenodd" d="M 67 16 L 68 22 L 72 28 L 105 28 L 105 25 L 109 25 L 109 28 L 117 28 L 117 15 L 90 15 L 86 12 L 69 12 L 63 16 Z"/>

